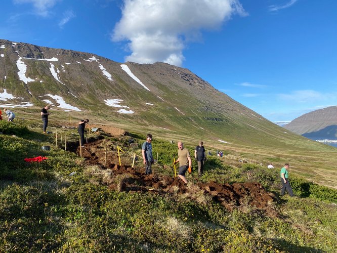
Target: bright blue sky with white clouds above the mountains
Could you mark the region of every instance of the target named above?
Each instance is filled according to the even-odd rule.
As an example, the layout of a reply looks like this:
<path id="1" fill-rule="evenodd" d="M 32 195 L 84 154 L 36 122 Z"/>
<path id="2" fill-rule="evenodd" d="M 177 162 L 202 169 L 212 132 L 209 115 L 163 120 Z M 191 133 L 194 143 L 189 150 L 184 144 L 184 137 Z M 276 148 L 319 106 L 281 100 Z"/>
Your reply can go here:
<path id="1" fill-rule="evenodd" d="M 0 38 L 190 69 L 271 121 L 337 105 L 335 0 L 7 0 Z"/>

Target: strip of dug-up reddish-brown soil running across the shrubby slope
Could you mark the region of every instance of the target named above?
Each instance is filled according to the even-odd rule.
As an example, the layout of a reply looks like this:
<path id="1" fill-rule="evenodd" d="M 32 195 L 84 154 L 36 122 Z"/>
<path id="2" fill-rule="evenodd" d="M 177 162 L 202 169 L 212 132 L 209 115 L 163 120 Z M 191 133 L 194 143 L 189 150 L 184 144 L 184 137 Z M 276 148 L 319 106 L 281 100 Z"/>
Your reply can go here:
<path id="1" fill-rule="evenodd" d="M 110 147 L 109 151 L 112 149 Z M 230 185 L 216 182 L 198 182 L 191 188 L 178 177 L 156 174 L 145 175 L 144 168 L 135 170 L 131 165 L 116 165 L 118 163 L 117 157 L 105 156 L 105 150 L 104 140 L 98 140 L 89 143 L 82 149 L 82 157 L 87 158 L 88 164 L 98 164 L 111 170 L 110 178 L 105 180 L 111 190 L 156 194 L 189 193 L 189 196 L 193 196 L 195 192 L 202 192 L 202 194 L 212 197 L 214 201 L 221 203 L 230 210 L 233 208 L 243 209 L 250 205 L 258 210 L 265 211 L 269 216 L 277 216 L 276 210 L 271 205 L 274 202 L 274 195 L 267 192 L 259 183 L 246 182 Z M 76 152 L 79 153 L 79 149 Z M 105 159 L 107 159 L 106 166 Z"/>

